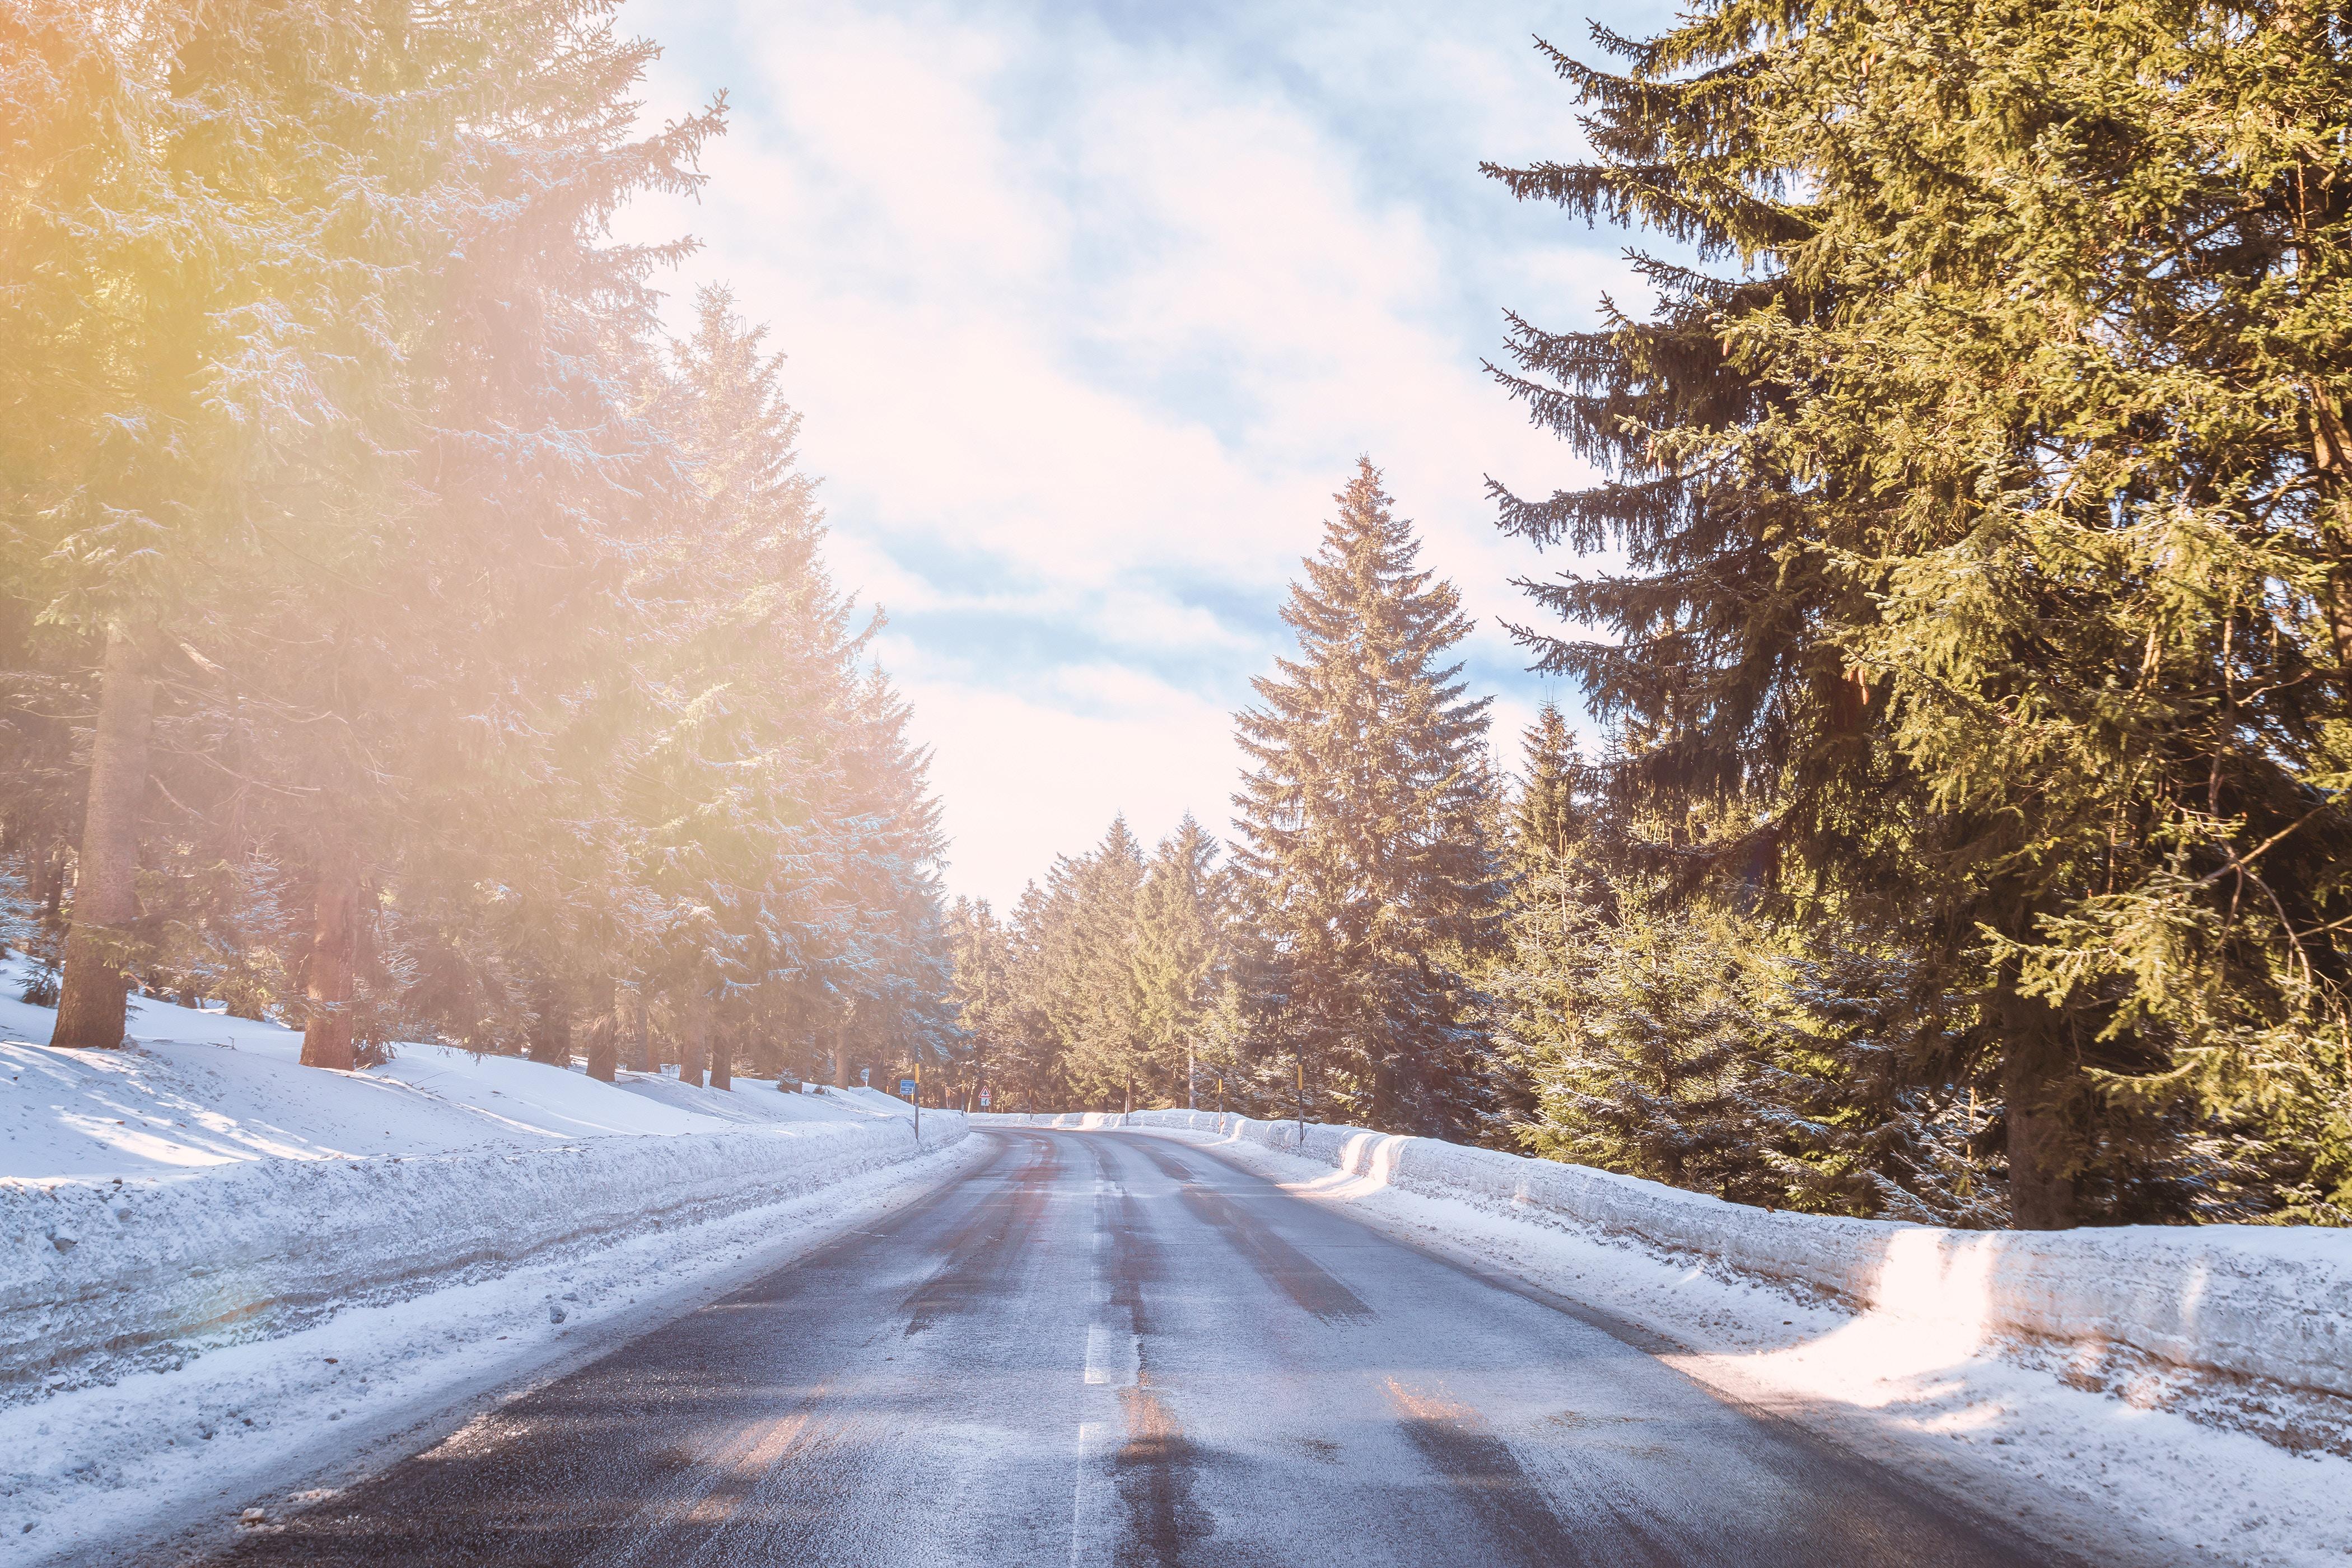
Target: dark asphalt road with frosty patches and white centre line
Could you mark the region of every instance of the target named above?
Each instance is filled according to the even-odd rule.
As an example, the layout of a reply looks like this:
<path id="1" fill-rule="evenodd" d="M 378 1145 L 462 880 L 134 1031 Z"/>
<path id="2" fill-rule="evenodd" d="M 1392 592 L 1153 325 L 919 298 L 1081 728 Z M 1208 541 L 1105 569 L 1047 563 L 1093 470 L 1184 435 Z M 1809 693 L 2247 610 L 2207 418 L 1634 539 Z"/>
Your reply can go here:
<path id="1" fill-rule="evenodd" d="M 978 1135 L 880 1232 L 216 1561 L 2053 1561 L 1200 1147 Z"/>

